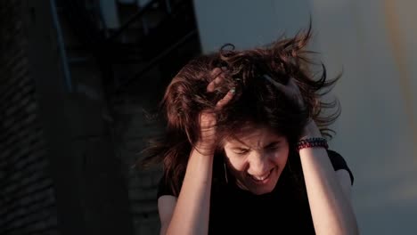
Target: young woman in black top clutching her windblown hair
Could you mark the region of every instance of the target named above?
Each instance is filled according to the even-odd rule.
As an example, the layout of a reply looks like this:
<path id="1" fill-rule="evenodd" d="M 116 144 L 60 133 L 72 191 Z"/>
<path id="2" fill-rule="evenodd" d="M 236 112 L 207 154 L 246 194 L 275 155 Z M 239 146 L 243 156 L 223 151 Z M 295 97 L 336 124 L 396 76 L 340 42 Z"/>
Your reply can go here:
<path id="1" fill-rule="evenodd" d="M 312 75 L 310 30 L 190 61 L 162 106 L 160 234 L 358 234 L 346 161 L 329 150 L 337 81 Z M 324 138 L 326 137 L 326 138 Z"/>

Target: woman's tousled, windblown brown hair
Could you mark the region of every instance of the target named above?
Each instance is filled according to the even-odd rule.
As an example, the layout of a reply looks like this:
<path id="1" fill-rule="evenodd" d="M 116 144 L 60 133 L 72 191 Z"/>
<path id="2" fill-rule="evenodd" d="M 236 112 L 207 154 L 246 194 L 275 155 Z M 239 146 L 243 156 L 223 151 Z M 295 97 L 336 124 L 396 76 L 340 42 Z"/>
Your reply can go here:
<path id="1" fill-rule="evenodd" d="M 146 157 L 141 165 L 162 162 L 169 186 L 177 195 L 192 146 L 200 138 L 200 111 L 213 109 L 233 87 L 233 100 L 217 113 L 218 140 L 233 137 L 241 126 L 251 124 L 272 128 L 286 136 L 290 147 L 294 147 L 308 118 L 313 118 L 322 134 L 331 138 L 334 131 L 329 126 L 339 117 L 339 102 L 324 102 L 321 98 L 340 76 L 327 79 L 323 63 L 311 60 L 309 55 L 314 52 L 307 50 L 311 36 L 310 27 L 305 33 L 280 38 L 266 47 L 237 51 L 233 45 L 225 45 L 218 53 L 201 55 L 186 64 L 172 79 L 161 101 L 167 123 L 165 133 L 143 151 Z M 319 77 L 311 72 L 316 65 L 322 68 Z M 207 85 L 213 79 L 210 72 L 215 68 L 223 68 L 225 81 L 215 93 L 207 93 Z M 264 75 L 284 85 L 294 78 L 305 107 L 298 107 Z M 323 115 L 324 109 L 335 107 L 333 113 Z"/>

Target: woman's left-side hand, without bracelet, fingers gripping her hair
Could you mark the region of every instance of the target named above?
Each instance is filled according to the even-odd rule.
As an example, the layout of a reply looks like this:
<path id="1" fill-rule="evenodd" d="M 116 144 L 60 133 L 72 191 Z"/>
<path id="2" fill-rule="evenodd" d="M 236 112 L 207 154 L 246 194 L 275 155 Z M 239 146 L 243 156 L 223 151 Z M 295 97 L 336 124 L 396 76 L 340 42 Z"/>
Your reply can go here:
<path id="1" fill-rule="evenodd" d="M 222 69 L 216 68 L 211 71 L 211 77 L 214 77 L 214 79 L 212 79 L 212 81 L 207 85 L 208 93 L 215 92 L 217 86 L 219 86 L 225 79 L 225 73 Z M 200 140 L 197 142 L 195 149 L 199 151 L 201 155 L 214 155 L 217 145 L 216 112 L 223 109 L 223 107 L 225 107 L 225 105 L 233 99 L 234 93 L 234 89 L 230 90 L 225 94 L 225 97 L 223 97 L 220 101 L 217 101 L 214 109 L 206 109 L 200 112 Z"/>

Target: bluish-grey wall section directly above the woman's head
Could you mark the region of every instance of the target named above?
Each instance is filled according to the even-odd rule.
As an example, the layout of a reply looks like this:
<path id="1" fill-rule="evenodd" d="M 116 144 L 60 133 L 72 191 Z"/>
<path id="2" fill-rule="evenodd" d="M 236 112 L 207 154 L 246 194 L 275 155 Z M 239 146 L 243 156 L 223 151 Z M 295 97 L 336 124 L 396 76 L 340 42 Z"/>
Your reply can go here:
<path id="1" fill-rule="evenodd" d="M 284 7 L 275 2 L 194 0 L 203 51 L 216 51 L 225 43 L 239 49 L 265 45 L 282 33 L 291 34 L 308 26 L 307 0 L 285 1 L 292 3 Z M 288 20 L 291 18 L 294 21 Z"/>

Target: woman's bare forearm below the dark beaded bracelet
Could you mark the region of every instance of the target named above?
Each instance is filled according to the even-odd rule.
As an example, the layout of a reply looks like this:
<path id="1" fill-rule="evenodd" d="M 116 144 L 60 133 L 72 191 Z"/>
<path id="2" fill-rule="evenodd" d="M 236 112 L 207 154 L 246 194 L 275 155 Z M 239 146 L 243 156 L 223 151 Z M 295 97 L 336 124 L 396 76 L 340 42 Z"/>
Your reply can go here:
<path id="1" fill-rule="evenodd" d="M 305 137 L 321 136 L 315 123 Z M 323 148 L 299 150 L 316 234 L 358 234 L 351 202 L 344 195 L 338 177 Z"/>

